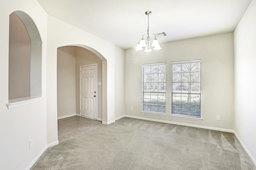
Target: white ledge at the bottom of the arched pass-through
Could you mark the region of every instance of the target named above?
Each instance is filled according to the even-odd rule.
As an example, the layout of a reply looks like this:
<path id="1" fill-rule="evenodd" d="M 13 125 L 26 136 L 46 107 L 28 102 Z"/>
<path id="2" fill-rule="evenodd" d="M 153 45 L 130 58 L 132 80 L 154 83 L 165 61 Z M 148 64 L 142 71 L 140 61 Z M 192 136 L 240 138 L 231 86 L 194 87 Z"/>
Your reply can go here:
<path id="1" fill-rule="evenodd" d="M 43 100 L 44 97 L 38 97 L 38 96 L 31 96 L 31 97 L 25 97 L 25 98 L 18 98 L 18 99 L 11 99 L 9 100 L 9 103 L 6 104 L 8 109 L 12 109 L 15 107 L 20 107 L 26 104 L 34 103 L 40 100 Z"/>

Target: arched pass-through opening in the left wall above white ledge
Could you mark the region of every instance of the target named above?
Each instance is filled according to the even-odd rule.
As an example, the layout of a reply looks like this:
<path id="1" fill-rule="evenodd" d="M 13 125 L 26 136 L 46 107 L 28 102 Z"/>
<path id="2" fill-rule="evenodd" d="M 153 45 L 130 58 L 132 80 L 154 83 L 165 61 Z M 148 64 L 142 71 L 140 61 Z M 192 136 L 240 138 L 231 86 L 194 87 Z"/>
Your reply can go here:
<path id="1" fill-rule="evenodd" d="M 42 96 L 42 40 L 38 29 L 22 11 L 9 17 L 8 109 L 23 105 L 16 102 L 32 102 Z"/>

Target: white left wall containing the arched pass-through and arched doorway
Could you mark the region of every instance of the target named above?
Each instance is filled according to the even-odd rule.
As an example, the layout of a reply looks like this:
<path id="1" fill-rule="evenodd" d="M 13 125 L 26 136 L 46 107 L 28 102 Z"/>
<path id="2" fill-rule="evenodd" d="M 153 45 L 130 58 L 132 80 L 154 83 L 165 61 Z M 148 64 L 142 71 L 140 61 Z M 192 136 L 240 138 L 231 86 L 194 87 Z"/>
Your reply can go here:
<path id="1" fill-rule="evenodd" d="M 8 110 L 6 104 L 8 103 L 9 15 L 16 10 L 23 11 L 32 18 L 42 39 L 42 96 L 45 98 L 39 102 Z M 102 59 L 104 74 L 102 119 L 104 123 L 114 121 L 115 104 L 111 102 L 114 101 L 115 94 L 114 44 L 48 16 L 37 0 L 0 0 L 0 23 L 0 169 L 29 169 L 48 146 L 58 143 L 58 47 L 78 45 L 93 51 Z M 33 142 L 31 149 L 29 149 L 30 140 Z"/>

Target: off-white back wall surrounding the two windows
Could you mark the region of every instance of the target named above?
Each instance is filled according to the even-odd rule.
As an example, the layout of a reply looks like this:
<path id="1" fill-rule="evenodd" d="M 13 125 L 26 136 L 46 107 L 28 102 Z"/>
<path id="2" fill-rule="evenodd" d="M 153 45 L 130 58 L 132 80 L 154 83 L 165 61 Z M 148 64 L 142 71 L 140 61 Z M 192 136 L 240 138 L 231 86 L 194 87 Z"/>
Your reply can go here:
<path id="1" fill-rule="evenodd" d="M 126 115 L 157 119 L 172 123 L 233 129 L 234 54 L 233 33 L 188 39 L 161 44 L 162 49 L 146 53 L 135 49 L 125 54 Z M 202 61 L 202 121 L 170 118 L 171 62 L 201 59 Z M 166 117 L 141 114 L 142 64 L 166 63 Z M 133 107 L 133 110 L 131 110 Z M 220 115 L 220 121 L 216 116 Z"/>

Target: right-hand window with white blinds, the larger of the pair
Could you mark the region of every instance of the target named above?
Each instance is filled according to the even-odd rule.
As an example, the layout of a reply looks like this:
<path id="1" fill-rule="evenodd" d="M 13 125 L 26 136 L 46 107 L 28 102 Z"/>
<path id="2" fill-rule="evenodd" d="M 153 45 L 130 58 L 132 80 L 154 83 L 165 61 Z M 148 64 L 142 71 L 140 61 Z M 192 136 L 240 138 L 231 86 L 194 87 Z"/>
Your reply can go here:
<path id="1" fill-rule="evenodd" d="M 172 62 L 172 115 L 201 118 L 201 60 Z"/>

